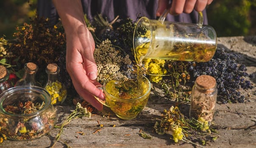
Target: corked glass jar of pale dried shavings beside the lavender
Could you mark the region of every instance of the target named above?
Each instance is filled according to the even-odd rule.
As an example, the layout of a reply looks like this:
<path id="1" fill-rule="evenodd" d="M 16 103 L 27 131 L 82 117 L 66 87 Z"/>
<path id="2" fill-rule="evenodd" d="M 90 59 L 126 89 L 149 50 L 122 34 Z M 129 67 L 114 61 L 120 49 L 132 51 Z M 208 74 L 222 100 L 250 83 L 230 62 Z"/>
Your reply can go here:
<path id="1" fill-rule="evenodd" d="M 217 83 L 214 77 L 201 75 L 194 82 L 189 116 L 212 121 L 217 101 Z"/>

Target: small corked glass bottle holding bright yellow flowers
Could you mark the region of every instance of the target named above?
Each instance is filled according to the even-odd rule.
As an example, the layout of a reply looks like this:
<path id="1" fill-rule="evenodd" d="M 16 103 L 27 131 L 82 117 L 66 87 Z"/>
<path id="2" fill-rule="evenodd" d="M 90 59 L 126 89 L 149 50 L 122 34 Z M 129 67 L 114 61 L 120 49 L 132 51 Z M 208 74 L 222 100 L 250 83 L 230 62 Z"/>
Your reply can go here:
<path id="1" fill-rule="evenodd" d="M 65 85 L 59 81 L 59 66 L 54 63 L 48 64 L 45 72 L 48 75 L 48 82 L 45 89 L 51 95 L 51 104 L 61 105 L 67 97 L 67 89 Z"/>

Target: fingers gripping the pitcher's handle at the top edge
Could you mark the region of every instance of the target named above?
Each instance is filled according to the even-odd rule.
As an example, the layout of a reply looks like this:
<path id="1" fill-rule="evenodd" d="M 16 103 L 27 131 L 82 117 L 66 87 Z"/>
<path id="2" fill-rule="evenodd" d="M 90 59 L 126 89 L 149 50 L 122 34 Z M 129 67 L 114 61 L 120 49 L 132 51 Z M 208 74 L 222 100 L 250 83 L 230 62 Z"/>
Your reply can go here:
<path id="1" fill-rule="evenodd" d="M 177 15 L 181 13 L 190 14 L 193 10 L 203 11 L 207 5 L 210 5 L 213 0 L 172 0 L 169 5 L 169 0 L 158 1 L 157 16 L 163 14 L 163 11 L 168 8 L 169 13 Z"/>

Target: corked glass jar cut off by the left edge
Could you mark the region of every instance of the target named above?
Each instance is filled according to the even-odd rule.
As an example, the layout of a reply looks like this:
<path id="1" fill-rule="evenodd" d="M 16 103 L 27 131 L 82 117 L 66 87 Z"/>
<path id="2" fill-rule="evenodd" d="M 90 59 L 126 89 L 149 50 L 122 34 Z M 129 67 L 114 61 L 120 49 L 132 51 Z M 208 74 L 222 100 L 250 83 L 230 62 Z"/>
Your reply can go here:
<path id="1" fill-rule="evenodd" d="M 7 90 L 8 88 L 11 88 L 11 82 L 9 79 L 9 73 L 5 66 L 0 65 L 0 93 L 3 93 L 3 91 Z"/>

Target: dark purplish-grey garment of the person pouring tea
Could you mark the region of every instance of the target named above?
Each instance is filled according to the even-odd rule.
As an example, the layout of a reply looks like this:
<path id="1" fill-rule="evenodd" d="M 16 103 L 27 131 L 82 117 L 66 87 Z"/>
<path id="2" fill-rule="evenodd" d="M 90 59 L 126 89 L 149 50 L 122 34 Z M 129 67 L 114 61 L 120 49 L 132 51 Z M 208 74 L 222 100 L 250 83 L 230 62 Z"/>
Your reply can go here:
<path id="1" fill-rule="evenodd" d="M 149 19 L 158 19 L 156 11 L 158 8 L 158 0 L 81 0 L 84 14 L 90 21 L 93 21 L 93 16 L 102 14 L 109 22 L 119 16 L 120 19 L 129 17 L 136 21 L 137 16 L 146 16 Z M 52 23 L 55 23 L 59 16 L 51 0 L 38 0 L 37 14 L 49 18 Z M 208 25 L 206 11 L 203 11 L 204 24 Z M 168 14 L 167 21 L 171 22 L 186 22 L 197 23 L 197 11 L 191 14 L 180 14 L 173 16 Z"/>

